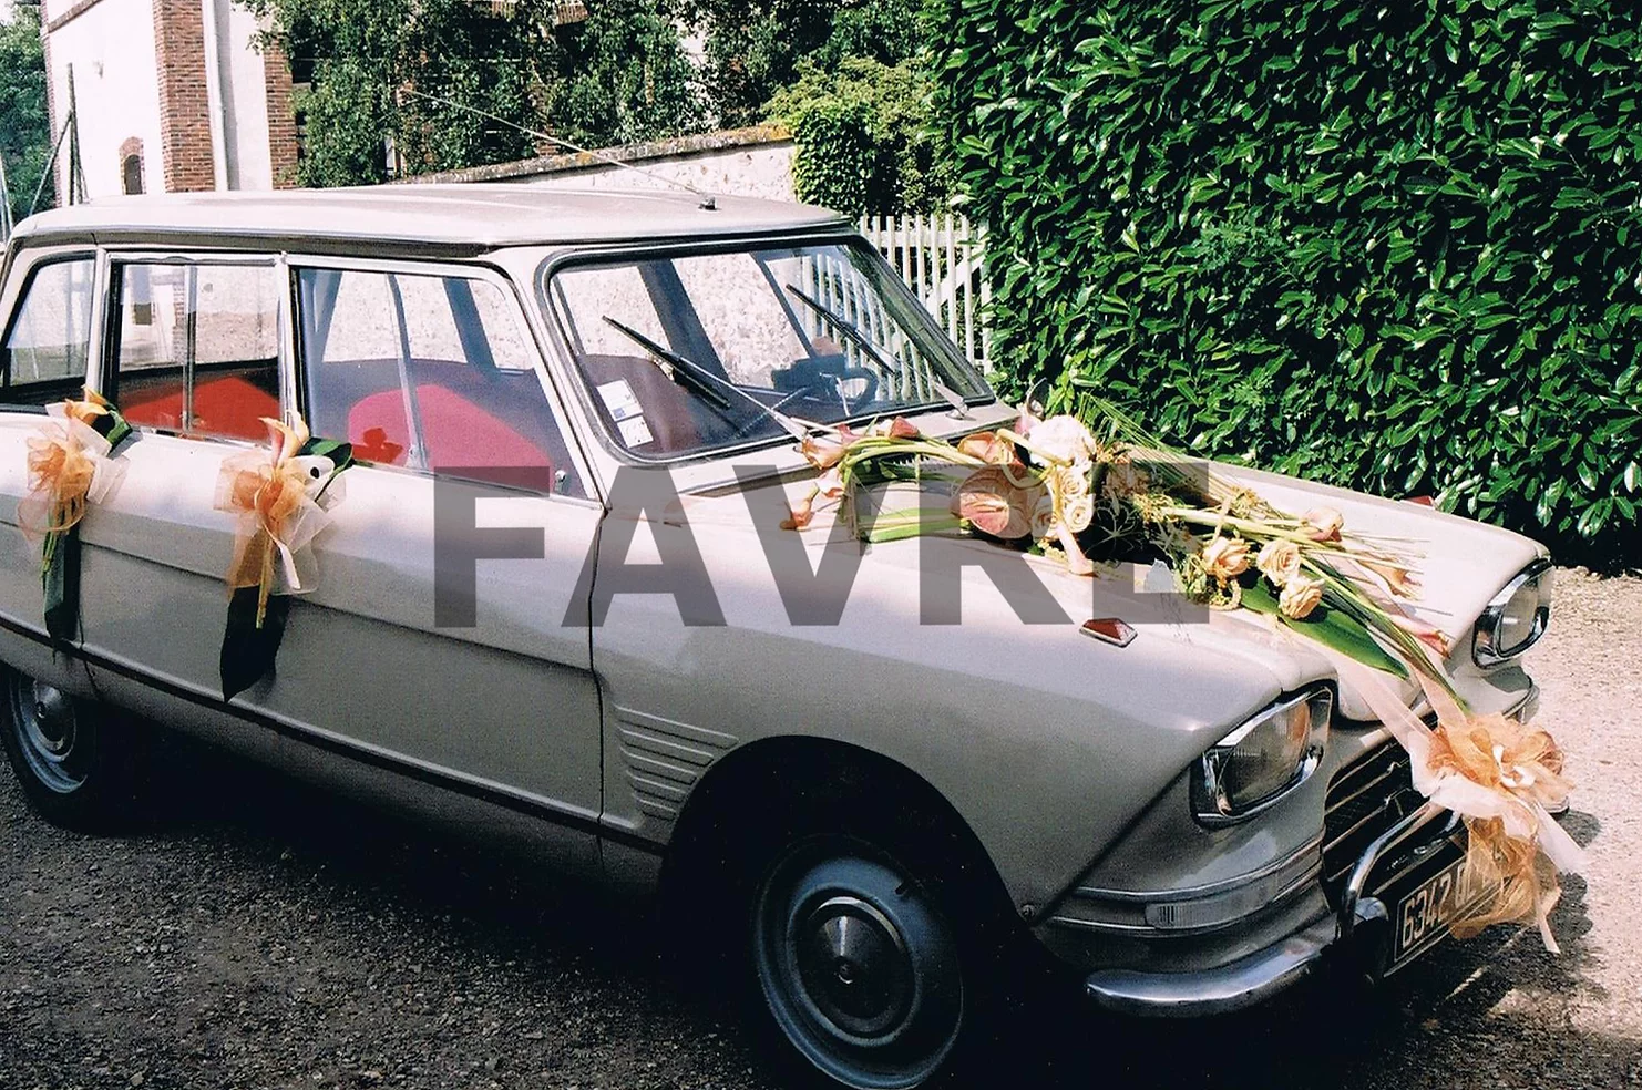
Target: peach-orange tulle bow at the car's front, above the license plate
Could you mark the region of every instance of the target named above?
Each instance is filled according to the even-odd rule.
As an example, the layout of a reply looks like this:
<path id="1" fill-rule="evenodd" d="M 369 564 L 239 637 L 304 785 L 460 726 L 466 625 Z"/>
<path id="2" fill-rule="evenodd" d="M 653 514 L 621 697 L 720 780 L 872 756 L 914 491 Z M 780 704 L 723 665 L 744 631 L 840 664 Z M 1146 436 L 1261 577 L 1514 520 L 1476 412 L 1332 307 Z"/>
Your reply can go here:
<path id="1" fill-rule="evenodd" d="M 1550 811 L 1568 801 L 1562 750 L 1545 730 L 1499 714 L 1475 716 L 1415 670 L 1437 712 L 1427 729 L 1373 670 L 1337 663 L 1350 685 L 1409 750 L 1414 786 L 1465 818 L 1470 832 L 1465 891 L 1473 906 L 1448 921 L 1460 937 L 1496 923 L 1535 924 L 1558 952 L 1550 911 L 1562 898 L 1558 872 L 1585 867 L 1585 850 Z"/>

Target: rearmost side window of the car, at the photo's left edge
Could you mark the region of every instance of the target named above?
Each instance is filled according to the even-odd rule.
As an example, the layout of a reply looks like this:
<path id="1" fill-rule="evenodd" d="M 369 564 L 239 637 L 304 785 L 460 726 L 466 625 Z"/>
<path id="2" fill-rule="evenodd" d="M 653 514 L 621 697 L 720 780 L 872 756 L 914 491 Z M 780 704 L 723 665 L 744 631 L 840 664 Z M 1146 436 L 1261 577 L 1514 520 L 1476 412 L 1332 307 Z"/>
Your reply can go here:
<path id="1" fill-rule="evenodd" d="M 34 269 L 5 333 L 5 401 L 48 404 L 79 397 L 90 351 L 94 264 L 51 261 Z"/>

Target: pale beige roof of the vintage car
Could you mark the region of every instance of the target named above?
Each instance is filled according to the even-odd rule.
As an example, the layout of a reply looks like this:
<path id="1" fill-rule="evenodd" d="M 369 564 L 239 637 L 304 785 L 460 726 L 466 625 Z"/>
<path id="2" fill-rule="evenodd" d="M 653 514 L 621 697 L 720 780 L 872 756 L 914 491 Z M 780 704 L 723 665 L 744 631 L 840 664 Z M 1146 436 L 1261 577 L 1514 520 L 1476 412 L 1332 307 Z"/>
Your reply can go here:
<path id="1" fill-rule="evenodd" d="M 307 238 L 478 251 L 844 225 L 836 212 L 782 200 L 471 182 L 107 197 L 30 217 L 18 223 L 16 238 Z"/>

